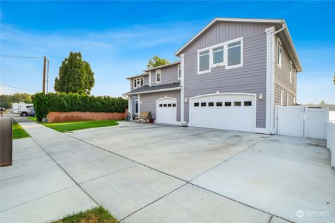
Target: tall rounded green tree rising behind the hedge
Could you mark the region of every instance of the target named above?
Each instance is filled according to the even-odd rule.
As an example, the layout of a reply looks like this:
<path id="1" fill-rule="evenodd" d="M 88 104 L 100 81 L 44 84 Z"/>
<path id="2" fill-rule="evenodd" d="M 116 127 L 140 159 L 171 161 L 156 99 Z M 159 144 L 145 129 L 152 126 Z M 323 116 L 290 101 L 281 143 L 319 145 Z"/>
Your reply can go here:
<path id="1" fill-rule="evenodd" d="M 90 94 L 94 86 L 94 72 L 80 52 L 70 52 L 59 68 L 59 77 L 54 79 L 54 91 L 59 93 Z"/>

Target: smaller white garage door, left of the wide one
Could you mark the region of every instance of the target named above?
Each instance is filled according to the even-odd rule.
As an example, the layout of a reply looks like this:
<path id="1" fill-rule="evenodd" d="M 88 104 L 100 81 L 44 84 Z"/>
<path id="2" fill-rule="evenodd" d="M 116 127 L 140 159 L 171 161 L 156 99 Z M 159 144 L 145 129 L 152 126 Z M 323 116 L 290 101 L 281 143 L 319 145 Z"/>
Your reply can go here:
<path id="1" fill-rule="evenodd" d="M 160 98 L 156 106 L 156 123 L 177 124 L 177 99 Z"/>

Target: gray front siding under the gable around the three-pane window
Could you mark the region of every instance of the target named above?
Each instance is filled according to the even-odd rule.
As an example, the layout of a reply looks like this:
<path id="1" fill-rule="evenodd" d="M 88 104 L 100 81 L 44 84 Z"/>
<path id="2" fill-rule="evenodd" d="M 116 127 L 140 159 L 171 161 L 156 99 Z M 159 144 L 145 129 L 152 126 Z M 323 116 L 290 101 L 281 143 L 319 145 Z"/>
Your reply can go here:
<path id="1" fill-rule="evenodd" d="M 266 69 L 268 24 L 239 24 L 219 22 L 184 51 L 185 98 L 216 91 L 231 93 L 262 93 L 257 101 L 256 126 L 265 128 L 266 118 Z M 224 66 L 211 68 L 211 72 L 198 75 L 198 49 L 210 47 L 244 36 L 243 67 L 225 70 Z M 184 118 L 189 121 L 189 100 L 185 102 Z"/>

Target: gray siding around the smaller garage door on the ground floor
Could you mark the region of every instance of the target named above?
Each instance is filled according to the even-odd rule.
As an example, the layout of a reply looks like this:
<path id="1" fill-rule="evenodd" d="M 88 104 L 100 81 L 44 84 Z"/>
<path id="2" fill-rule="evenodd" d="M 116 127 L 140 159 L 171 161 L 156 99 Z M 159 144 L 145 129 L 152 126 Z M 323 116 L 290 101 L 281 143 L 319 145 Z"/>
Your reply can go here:
<path id="1" fill-rule="evenodd" d="M 140 96 L 142 101 L 140 111 L 151 112 L 151 115 L 156 120 L 156 100 L 165 96 L 177 98 L 177 121 L 180 121 L 180 90 L 142 94 Z"/>

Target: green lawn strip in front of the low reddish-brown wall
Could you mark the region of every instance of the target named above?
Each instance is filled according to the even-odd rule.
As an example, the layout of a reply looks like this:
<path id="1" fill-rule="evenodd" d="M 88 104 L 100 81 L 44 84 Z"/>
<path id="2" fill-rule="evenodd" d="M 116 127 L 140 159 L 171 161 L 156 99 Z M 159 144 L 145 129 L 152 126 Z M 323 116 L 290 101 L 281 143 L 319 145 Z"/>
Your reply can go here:
<path id="1" fill-rule="evenodd" d="M 36 121 L 35 117 L 27 117 L 31 121 Z M 117 120 L 103 120 L 103 121 L 71 121 L 65 123 L 40 123 L 45 125 L 53 130 L 59 132 L 70 132 L 74 130 L 83 130 L 85 128 L 97 128 L 97 127 L 106 127 L 119 125 Z"/>

